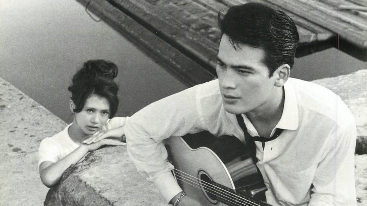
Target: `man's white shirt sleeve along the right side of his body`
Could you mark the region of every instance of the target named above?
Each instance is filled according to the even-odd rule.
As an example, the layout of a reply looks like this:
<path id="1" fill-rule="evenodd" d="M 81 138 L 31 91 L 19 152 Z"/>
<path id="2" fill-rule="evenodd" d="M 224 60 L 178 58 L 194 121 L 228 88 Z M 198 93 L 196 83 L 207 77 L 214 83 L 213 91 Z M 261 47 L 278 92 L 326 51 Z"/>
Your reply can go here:
<path id="1" fill-rule="evenodd" d="M 356 125 L 349 122 L 336 126 L 331 133 L 330 150 L 316 169 L 309 206 L 355 206 Z M 345 121 L 345 120 L 344 120 Z"/>

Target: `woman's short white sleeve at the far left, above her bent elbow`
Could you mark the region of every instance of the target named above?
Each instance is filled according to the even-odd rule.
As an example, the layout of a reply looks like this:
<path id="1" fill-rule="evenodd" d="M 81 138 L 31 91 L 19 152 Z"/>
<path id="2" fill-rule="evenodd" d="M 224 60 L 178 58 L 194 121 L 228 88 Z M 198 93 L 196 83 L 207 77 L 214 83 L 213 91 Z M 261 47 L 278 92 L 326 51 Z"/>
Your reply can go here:
<path id="1" fill-rule="evenodd" d="M 57 162 L 58 161 L 58 154 L 59 154 L 59 147 L 54 140 L 50 137 L 47 137 L 41 141 L 40 147 L 38 149 L 38 167 L 42 162 L 51 161 Z"/>

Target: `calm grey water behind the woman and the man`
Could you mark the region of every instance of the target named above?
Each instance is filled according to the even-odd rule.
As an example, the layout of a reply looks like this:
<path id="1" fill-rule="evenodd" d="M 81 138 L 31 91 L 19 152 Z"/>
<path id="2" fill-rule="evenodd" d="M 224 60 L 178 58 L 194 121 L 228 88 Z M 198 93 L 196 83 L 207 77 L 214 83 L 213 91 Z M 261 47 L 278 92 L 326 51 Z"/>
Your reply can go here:
<path id="1" fill-rule="evenodd" d="M 119 66 L 117 115 L 186 88 L 104 22 L 93 21 L 75 0 L 0 0 L 0 21 L 0 77 L 65 121 L 70 79 L 89 59 Z M 297 59 L 291 76 L 315 80 L 366 68 L 332 48 Z"/>

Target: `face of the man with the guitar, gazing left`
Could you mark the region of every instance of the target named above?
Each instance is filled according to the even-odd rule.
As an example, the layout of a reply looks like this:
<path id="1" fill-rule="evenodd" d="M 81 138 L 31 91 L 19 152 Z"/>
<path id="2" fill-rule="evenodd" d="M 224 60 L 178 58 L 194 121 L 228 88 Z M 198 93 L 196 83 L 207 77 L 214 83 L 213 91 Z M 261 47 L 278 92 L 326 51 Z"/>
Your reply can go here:
<path id="1" fill-rule="evenodd" d="M 269 78 L 265 51 L 246 44 L 236 49 L 224 34 L 219 44 L 217 75 L 227 112 L 261 111 L 272 104 L 276 75 Z"/>

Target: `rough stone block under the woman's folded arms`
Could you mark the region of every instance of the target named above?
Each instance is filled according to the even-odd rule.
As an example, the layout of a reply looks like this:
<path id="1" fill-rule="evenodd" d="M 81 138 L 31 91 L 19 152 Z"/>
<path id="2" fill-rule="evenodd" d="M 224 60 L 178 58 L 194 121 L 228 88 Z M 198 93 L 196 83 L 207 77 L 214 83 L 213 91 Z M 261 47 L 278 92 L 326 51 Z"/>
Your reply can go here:
<path id="1" fill-rule="evenodd" d="M 126 146 L 99 149 L 70 166 L 61 183 L 50 189 L 45 203 L 48 206 L 167 205 L 155 185 L 137 172 Z"/>

